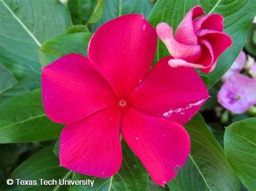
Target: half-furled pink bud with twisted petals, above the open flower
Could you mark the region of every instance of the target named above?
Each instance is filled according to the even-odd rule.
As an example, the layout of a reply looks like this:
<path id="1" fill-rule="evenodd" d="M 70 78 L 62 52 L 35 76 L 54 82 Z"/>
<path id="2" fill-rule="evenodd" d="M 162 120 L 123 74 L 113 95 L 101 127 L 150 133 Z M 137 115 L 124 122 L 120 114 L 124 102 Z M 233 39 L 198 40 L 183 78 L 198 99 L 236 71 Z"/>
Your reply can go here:
<path id="1" fill-rule="evenodd" d="M 220 54 L 232 45 L 232 39 L 223 33 L 223 17 L 205 15 L 200 6 L 187 13 L 174 36 L 167 23 L 157 25 L 157 34 L 174 57 L 169 61 L 171 67 L 194 67 L 204 73 L 210 73 Z"/>

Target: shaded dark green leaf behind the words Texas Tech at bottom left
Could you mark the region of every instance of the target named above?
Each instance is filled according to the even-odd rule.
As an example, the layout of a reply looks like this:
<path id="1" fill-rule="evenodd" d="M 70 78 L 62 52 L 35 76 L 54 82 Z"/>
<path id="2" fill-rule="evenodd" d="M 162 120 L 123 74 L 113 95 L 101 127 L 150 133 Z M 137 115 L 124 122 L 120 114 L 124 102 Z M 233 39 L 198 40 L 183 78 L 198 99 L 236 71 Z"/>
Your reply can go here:
<path id="1" fill-rule="evenodd" d="M 43 150 L 35 153 L 28 160 L 19 165 L 9 176 L 10 179 L 21 180 L 36 180 L 36 186 L 17 185 L 16 180 L 14 185 L 6 186 L 4 190 L 68 190 L 68 186 L 59 186 L 58 180 L 71 178 L 72 171 L 59 166 L 59 160 L 52 152 L 52 147 L 46 147 Z M 57 180 L 57 185 L 40 185 L 40 180 Z"/>

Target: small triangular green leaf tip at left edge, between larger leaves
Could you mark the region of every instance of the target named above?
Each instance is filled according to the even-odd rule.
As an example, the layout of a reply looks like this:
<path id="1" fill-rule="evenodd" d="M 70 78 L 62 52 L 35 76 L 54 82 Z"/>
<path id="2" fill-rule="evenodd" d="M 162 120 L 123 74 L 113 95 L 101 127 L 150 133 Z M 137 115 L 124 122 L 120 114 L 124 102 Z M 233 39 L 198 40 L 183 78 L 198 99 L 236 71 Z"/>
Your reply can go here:
<path id="1" fill-rule="evenodd" d="M 27 92 L 26 90 L 9 72 L 8 69 L 0 65 L 0 105 L 19 94 Z"/>

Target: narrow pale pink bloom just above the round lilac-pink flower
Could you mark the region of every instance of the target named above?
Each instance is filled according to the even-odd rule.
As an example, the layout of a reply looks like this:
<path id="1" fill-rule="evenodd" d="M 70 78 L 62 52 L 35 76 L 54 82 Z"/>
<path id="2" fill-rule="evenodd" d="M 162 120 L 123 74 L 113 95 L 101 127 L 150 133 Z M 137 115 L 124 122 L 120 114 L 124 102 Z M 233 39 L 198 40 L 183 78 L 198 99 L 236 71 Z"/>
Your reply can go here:
<path id="1" fill-rule="evenodd" d="M 233 74 L 239 73 L 242 68 L 244 68 L 246 63 L 246 54 L 244 51 L 241 51 L 237 58 L 235 59 L 234 63 L 230 67 L 230 69 L 227 70 L 227 72 L 223 75 L 222 80 L 226 81 L 228 77 L 230 77 Z"/>

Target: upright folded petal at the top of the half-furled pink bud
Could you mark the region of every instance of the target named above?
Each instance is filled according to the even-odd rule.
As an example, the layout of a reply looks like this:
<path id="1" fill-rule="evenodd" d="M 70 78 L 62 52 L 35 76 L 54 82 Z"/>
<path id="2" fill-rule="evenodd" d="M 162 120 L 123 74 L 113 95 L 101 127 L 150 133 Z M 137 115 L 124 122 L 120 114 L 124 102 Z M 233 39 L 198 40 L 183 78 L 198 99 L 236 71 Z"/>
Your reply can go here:
<path id="1" fill-rule="evenodd" d="M 193 29 L 193 20 L 204 14 L 205 12 L 201 6 L 195 6 L 191 9 L 179 24 L 175 31 L 174 38 L 182 44 L 197 45 L 198 41 L 197 35 L 194 33 Z"/>

